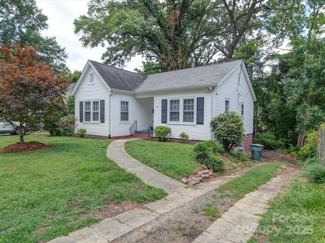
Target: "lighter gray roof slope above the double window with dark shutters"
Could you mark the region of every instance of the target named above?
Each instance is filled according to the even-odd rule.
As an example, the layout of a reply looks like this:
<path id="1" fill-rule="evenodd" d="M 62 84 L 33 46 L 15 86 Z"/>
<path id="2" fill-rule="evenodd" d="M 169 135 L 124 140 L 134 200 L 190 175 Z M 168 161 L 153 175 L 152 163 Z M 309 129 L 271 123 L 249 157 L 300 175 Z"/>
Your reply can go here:
<path id="1" fill-rule="evenodd" d="M 242 60 L 148 75 L 137 92 L 216 86 Z"/>

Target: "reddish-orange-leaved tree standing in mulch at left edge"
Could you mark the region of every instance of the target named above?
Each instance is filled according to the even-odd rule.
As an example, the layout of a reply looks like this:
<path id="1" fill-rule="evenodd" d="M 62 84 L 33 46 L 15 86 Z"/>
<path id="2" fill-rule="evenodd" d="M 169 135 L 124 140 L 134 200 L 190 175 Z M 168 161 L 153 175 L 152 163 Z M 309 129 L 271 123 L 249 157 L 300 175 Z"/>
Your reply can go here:
<path id="1" fill-rule="evenodd" d="M 68 88 L 63 75 L 38 62 L 39 57 L 37 45 L 0 47 L 0 118 L 19 131 L 21 144 L 25 126 L 36 130 L 47 120 L 58 119 L 55 116 L 64 107 L 61 97 Z"/>

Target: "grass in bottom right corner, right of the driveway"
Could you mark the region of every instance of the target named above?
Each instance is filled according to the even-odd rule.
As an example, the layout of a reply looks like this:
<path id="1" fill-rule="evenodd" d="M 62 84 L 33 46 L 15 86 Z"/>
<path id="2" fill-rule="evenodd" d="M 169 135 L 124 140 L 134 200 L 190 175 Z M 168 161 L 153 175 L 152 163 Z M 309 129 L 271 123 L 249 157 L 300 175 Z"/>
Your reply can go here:
<path id="1" fill-rule="evenodd" d="M 281 198 L 276 197 L 247 242 L 325 242 L 325 185 L 295 179 Z"/>

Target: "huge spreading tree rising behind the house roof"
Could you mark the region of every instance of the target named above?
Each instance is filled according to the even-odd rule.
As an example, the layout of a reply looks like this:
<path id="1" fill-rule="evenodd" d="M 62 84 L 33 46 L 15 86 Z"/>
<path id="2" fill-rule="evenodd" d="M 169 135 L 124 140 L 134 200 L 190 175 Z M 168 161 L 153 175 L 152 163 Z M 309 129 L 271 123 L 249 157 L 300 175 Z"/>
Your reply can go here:
<path id="1" fill-rule="evenodd" d="M 108 46 L 105 63 L 124 66 L 143 56 L 145 71 L 175 70 L 231 60 L 252 33 L 265 0 L 127 0 L 89 3 L 74 21 L 84 46 Z"/>

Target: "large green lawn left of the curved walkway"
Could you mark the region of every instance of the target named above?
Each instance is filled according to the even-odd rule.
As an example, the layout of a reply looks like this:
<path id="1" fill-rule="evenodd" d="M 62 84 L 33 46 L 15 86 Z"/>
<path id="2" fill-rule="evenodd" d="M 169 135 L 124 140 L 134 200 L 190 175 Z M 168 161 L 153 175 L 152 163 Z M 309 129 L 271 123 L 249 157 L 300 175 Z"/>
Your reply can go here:
<path id="1" fill-rule="evenodd" d="M 19 141 L 0 136 L 0 149 Z M 47 241 L 99 219 L 113 201 L 148 203 L 167 193 L 144 184 L 107 158 L 111 141 L 28 135 L 49 146 L 41 151 L 0 154 L 0 242 Z"/>

